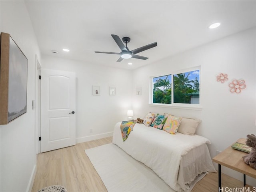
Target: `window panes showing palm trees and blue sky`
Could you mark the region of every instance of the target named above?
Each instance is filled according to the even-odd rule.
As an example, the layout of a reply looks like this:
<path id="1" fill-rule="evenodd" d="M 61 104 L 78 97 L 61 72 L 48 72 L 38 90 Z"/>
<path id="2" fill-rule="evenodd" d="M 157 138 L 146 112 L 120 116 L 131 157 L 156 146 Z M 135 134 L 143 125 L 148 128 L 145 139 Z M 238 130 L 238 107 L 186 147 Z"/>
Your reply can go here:
<path id="1" fill-rule="evenodd" d="M 200 104 L 199 69 L 153 77 L 152 84 L 152 104 Z"/>

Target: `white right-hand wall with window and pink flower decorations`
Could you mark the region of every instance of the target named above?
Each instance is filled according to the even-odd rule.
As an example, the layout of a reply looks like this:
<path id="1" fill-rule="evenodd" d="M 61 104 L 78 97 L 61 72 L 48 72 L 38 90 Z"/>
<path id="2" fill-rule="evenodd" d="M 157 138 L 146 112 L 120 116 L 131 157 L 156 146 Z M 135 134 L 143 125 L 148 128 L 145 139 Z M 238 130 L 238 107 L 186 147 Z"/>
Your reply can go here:
<path id="1" fill-rule="evenodd" d="M 202 123 L 197 134 L 211 140 L 212 144 L 208 147 L 212 157 L 216 155 L 216 150 L 224 150 L 238 138 L 255 134 L 255 36 L 255 28 L 246 30 L 134 70 L 134 116 L 143 118 L 147 112 L 152 111 L 200 118 Z M 194 66 L 201 66 L 202 110 L 148 105 L 150 76 L 166 75 L 173 70 Z M 224 84 L 216 81 L 216 76 L 220 73 L 228 74 L 229 80 Z M 247 87 L 240 94 L 229 91 L 228 84 L 234 79 L 244 79 L 246 82 Z M 136 86 L 142 86 L 142 96 L 135 94 Z M 242 179 L 242 174 L 237 178 Z M 255 180 L 251 184 L 256 186 Z"/>

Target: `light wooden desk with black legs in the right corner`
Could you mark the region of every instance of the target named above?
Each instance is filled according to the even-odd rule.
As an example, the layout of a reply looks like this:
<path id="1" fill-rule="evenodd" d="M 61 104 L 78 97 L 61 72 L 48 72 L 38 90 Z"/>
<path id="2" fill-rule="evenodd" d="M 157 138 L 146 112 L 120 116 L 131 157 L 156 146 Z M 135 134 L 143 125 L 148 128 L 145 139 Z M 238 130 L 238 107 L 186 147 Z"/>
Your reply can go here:
<path id="1" fill-rule="evenodd" d="M 236 142 L 245 144 L 246 139 L 240 138 Z M 230 145 L 228 148 L 226 148 L 224 151 L 222 151 L 212 159 L 213 162 L 218 163 L 219 191 L 221 189 L 221 166 L 222 165 L 244 174 L 244 186 L 246 185 L 246 175 L 256 178 L 256 170 L 254 168 L 251 168 L 246 163 L 244 163 L 242 158 L 248 153 L 233 149 L 231 147 L 232 145 Z"/>

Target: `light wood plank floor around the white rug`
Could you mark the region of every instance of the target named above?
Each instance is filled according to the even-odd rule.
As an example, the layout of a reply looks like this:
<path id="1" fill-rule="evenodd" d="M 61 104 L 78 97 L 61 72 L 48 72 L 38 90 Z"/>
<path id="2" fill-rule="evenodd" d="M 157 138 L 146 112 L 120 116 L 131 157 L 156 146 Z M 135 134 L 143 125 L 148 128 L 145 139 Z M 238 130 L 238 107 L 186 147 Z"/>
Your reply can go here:
<path id="1" fill-rule="evenodd" d="M 32 192 L 52 185 L 64 186 L 68 192 L 106 192 L 106 187 L 84 150 L 111 142 L 112 137 L 108 137 L 38 154 Z M 222 186 L 242 188 L 243 183 L 222 174 Z M 192 192 L 217 191 L 217 173 L 207 174 L 192 190 Z"/>

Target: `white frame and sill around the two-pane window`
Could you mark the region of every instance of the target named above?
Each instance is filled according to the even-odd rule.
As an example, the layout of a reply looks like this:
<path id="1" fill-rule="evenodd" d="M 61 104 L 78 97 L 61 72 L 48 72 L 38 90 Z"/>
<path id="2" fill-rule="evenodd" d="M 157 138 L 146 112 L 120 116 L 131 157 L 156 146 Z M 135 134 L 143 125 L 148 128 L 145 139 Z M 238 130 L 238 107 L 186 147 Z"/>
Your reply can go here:
<path id="1" fill-rule="evenodd" d="M 153 103 L 153 78 L 156 77 L 161 77 L 161 76 L 167 76 L 171 75 L 171 85 L 172 85 L 172 93 L 174 93 L 174 75 L 180 74 L 180 73 L 186 73 L 186 72 L 191 72 L 191 71 L 196 71 L 199 70 L 199 104 L 188 104 L 188 103 L 174 103 L 174 95 L 172 94 L 171 97 L 171 104 L 163 104 L 163 103 Z M 174 71 L 166 71 L 165 74 L 160 74 L 156 76 L 151 76 L 150 77 L 150 97 L 149 97 L 149 106 L 153 107 L 167 107 L 167 108 L 182 108 L 182 109 L 189 109 L 189 110 L 202 110 L 202 105 L 201 105 L 201 66 L 196 66 L 192 68 L 186 68 L 182 70 L 174 70 Z"/>

